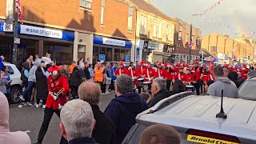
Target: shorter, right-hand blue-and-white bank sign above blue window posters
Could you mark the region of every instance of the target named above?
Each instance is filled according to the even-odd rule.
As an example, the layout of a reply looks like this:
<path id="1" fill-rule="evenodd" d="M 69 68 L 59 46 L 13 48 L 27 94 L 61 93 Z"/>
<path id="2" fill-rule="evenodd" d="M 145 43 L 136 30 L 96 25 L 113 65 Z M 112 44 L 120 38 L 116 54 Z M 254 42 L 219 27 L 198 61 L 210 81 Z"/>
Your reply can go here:
<path id="1" fill-rule="evenodd" d="M 94 36 L 94 44 L 98 45 L 109 45 L 109 46 L 120 46 L 131 49 L 132 43 L 130 41 L 124 41 L 114 38 L 103 38 Z"/>

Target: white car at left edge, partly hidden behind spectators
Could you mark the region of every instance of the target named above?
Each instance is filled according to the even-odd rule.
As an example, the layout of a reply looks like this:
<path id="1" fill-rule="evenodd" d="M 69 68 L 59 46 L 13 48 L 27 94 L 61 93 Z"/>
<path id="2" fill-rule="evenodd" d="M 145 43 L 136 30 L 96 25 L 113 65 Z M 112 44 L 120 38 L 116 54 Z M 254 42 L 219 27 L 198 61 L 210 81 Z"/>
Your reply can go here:
<path id="1" fill-rule="evenodd" d="M 5 66 L 8 66 L 9 73 L 10 73 L 10 98 L 12 102 L 19 102 L 19 96 L 22 94 L 22 80 L 21 80 L 21 73 L 18 68 L 9 62 L 3 62 Z"/>

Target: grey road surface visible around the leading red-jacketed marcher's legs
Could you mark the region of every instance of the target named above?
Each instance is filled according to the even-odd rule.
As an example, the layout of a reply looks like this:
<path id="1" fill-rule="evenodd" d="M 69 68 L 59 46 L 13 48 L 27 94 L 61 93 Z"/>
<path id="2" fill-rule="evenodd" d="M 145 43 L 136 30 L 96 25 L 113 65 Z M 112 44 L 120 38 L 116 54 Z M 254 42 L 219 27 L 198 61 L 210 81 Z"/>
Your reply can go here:
<path id="1" fill-rule="evenodd" d="M 100 110 L 104 112 L 106 106 L 114 98 L 114 92 L 108 95 L 102 95 L 101 102 L 99 104 Z M 38 133 L 42 125 L 42 119 L 44 112 L 42 108 L 36 108 L 35 106 L 25 106 L 18 108 L 19 104 L 10 104 L 10 131 L 30 131 L 28 134 L 31 139 L 31 143 L 37 141 Z M 59 129 L 59 118 L 56 114 L 53 115 L 46 136 L 43 139 L 42 144 L 58 144 L 61 138 L 61 132 Z"/>

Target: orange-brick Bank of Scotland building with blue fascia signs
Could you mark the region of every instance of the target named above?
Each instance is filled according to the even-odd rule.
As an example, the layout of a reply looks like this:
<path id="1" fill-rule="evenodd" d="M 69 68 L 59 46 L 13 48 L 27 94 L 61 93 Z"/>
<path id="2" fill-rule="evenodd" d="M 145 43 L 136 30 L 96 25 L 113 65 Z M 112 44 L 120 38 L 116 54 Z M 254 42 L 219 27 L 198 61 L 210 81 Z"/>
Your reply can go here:
<path id="1" fill-rule="evenodd" d="M 13 0 L 0 2 L 0 49 L 11 61 L 13 38 L 6 30 Z M 114 9 L 113 9 L 114 7 Z M 117 0 L 22 0 L 23 25 L 18 27 L 18 64 L 30 55 L 52 54 L 58 64 L 77 58 L 106 61 L 132 59 L 135 9 Z M 91 60 L 92 61 L 92 60 Z"/>

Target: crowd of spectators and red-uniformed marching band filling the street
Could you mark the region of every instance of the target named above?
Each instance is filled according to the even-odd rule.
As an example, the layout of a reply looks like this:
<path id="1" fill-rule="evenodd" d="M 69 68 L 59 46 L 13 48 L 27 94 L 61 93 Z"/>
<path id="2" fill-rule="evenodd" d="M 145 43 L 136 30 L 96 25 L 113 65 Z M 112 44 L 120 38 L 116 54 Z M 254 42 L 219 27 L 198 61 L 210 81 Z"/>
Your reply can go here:
<path id="1" fill-rule="evenodd" d="M 6 98 L 10 94 L 10 74 L 6 66 L 1 70 L 0 91 L 6 96 L 0 94 L 0 143 L 2 122 L 6 122 L 6 134 L 9 134 L 3 143 L 30 143 L 29 137 L 21 132 L 9 131 Z M 137 114 L 162 99 L 186 90 L 197 95 L 221 96 L 223 89 L 224 96 L 239 98 L 238 87 L 249 72 L 245 64 L 218 66 L 210 62 L 200 66 L 198 61 L 193 65 L 157 62 L 156 66 L 144 61 L 130 62 L 130 66 L 124 62 L 106 62 L 106 65 L 97 62 L 93 66 L 87 58 L 86 62 L 79 59 L 70 66 L 56 66 L 50 54 L 42 58 L 30 56 L 22 64 L 24 90 L 18 107 L 33 106 L 34 99 L 34 106 L 45 109 L 37 144 L 42 143 L 54 113 L 61 119 L 60 143 L 120 144 L 135 124 Z M 112 90 L 116 98 L 102 112 L 98 104 Z M 165 130 L 170 133 L 164 133 Z M 15 138 L 7 141 L 12 134 L 17 136 L 17 142 Z M 181 136 L 170 126 L 155 125 L 144 130 L 140 143 L 181 143 Z"/>

